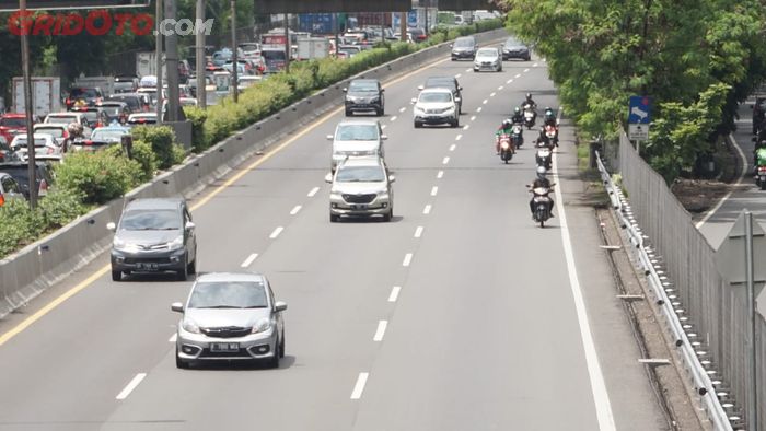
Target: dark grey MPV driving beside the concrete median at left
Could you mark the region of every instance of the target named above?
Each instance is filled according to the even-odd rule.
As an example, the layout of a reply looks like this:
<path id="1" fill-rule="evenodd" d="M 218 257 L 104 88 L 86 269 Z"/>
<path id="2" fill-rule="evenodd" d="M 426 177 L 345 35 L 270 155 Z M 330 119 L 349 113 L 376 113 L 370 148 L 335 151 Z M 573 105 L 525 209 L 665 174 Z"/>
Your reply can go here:
<path id="1" fill-rule="evenodd" d="M 112 280 L 132 272 L 197 271 L 197 237 L 183 198 L 136 199 L 125 207 L 112 243 Z"/>

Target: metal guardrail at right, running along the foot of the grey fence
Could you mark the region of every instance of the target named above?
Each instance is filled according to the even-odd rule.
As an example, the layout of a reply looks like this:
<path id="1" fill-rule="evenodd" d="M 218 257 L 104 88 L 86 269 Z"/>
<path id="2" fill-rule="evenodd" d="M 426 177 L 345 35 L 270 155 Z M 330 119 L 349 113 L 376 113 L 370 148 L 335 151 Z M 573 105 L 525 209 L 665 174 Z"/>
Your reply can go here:
<path id="1" fill-rule="evenodd" d="M 678 356 L 683 360 L 688 376 L 692 378 L 699 401 L 704 406 L 715 430 L 733 431 L 732 422 L 736 422 L 739 426 L 741 418 L 734 416 L 729 417 L 724 411 L 713 381 L 710 380 L 710 375 L 708 374 L 710 370 L 706 369 L 699 360 L 699 356 L 704 352 L 695 350 L 695 347 L 698 346 L 699 342 L 695 341 L 693 343 L 689 341 L 689 335 L 686 333 L 686 329 L 690 329 L 692 325 L 684 323 L 688 317 L 683 316 L 683 308 L 676 308 L 676 306 L 680 306 L 677 305 L 678 303 L 671 301 L 671 298 L 669 298 L 668 291 L 673 291 L 670 288 L 672 286 L 671 282 L 668 280 L 668 277 L 663 275 L 663 271 L 655 268 L 655 263 L 658 261 L 657 256 L 650 247 L 645 245 L 645 240 L 648 237 L 643 235 L 638 222 L 632 217 L 632 210 L 630 209 L 627 198 L 625 198 L 619 187 L 616 187 L 612 182 L 612 176 L 606 171 L 601 160 L 601 154 L 597 151 L 595 153 L 599 172 L 601 173 L 601 178 L 608 193 L 612 208 L 619 218 L 620 225 L 627 231 L 630 243 L 635 246 L 641 269 L 647 280 L 649 280 L 654 300 L 664 317 L 666 324 L 665 329 L 670 331 L 675 340 Z M 716 383 L 720 384 L 720 382 Z"/>

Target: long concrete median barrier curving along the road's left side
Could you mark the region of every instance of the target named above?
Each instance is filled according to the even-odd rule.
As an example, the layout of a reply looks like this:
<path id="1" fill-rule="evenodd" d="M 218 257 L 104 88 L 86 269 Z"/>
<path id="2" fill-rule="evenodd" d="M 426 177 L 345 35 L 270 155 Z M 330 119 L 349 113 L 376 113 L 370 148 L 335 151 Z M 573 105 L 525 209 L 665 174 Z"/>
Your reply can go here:
<path id="1" fill-rule="evenodd" d="M 506 37 L 504 30 L 477 35 L 479 43 Z M 381 81 L 402 75 L 425 63 L 448 58 L 449 43 L 441 44 L 338 82 L 297 102 L 219 142 L 184 164 L 162 173 L 124 198 L 116 199 L 78 218 L 51 235 L 0 260 L 0 317 L 24 305 L 49 286 L 88 265 L 107 249 L 112 233 L 106 223 L 117 221 L 125 199 L 193 195 L 225 175 L 257 151 L 281 140 L 288 132 L 315 120 L 343 104 L 343 88 L 355 78 Z"/>

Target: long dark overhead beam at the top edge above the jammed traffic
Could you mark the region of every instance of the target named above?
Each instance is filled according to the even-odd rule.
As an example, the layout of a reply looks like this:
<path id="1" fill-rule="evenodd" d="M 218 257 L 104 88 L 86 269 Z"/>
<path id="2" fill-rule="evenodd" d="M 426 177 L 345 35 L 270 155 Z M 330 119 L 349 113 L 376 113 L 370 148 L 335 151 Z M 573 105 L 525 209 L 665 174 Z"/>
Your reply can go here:
<path id="1" fill-rule="evenodd" d="M 411 0 L 255 0 L 256 13 L 407 12 Z"/>

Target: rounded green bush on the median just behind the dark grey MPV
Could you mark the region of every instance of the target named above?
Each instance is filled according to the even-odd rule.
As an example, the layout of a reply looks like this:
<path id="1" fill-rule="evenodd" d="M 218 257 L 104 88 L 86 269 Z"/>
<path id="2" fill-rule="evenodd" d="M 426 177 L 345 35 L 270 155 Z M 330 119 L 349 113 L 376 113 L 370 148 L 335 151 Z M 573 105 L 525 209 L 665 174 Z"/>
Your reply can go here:
<path id="1" fill-rule="evenodd" d="M 73 153 L 56 166 L 56 183 L 83 203 L 104 203 L 141 184 L 141 165 L 106 151 Z"/>

